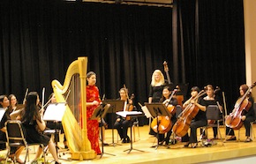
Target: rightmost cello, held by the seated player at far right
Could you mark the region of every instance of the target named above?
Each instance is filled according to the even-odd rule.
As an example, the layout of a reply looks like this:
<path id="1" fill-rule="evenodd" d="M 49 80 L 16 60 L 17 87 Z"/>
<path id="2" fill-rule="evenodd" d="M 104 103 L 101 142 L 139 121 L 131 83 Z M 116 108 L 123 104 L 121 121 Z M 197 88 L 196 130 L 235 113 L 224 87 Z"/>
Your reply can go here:
<path id="1" fill-rule="evenodd" d="M 236 101 L 235 107 L 226 117 L 226 126 L 232 128 L 233 130 L 239 130 L 244 122 L 242 121 L 242 116 L 245 115 L 245 112 L 248 112 L 249 108 L 252 107 L 251 101 L 248 101 L 248 95 L 252 87 L 256 86 L 256 82 L 250 86 L 245 94 Z"/>

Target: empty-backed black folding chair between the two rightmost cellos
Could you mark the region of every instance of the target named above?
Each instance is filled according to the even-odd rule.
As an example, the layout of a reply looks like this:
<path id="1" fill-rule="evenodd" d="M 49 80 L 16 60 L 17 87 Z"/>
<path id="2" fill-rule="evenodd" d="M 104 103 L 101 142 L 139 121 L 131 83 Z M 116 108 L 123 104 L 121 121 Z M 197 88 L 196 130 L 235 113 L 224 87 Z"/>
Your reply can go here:
<path id="1" fill-rule="evenodd" d="M 223 139 L 222 139 L 222 133 L 221 133 L 221 130 L 220 130 L 220 122 L 223 122 L 223 117 L 220 117 L 220 109 L 219 109 L 219 107 L 217 105 L 209 105 L 207 107 L 206 115 L 207 115 L 207 120 L 213 120 L 213 121 L 216 122 L 216 124 L 215 123 L 207 124 L 207 126 L 203 127 L 203 131 L 202 131 L 201 135 L 203 135 L 204 132 L 207 133 L 207 128 L 209 128 L 209 127 L 217 127 L 218 134 L 220 135 L 220 138 L 222 140 L 222 145 L 224 145 L 224 142 L 223 142 Z"/>

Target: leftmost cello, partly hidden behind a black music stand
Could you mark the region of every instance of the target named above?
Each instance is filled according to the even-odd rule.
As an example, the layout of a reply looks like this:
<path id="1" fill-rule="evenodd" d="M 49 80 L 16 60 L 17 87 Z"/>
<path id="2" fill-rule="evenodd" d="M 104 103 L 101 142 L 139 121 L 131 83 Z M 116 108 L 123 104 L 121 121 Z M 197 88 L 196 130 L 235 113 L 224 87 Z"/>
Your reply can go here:
<path id="1" fill-rule="evenodd" d="M 171 93 L 171 95 L 169 96 L 169 99 L 167 103 L 165 103 L 164 105 L 166 106 L 166 108 L 168 109 L 169 113 L 171 114 L 171 116 L 174 115 L 176 108 L 174 106 L 170 106 L 169 105 L 169 101 L 171 100 L 171 98 L 173 97 L 173 95 L 177 92 L 177 89 L 174 89 Z M 164 134 L 166 132 L 168 132 L 171 128 L 171 117 L 169 116 L 156 116 L 152 123 L 151 123 L 151 128 L 152 130 L 154 130 L 154 132 L 158 132 L 159 134 Z M 157 123 L 158 122 L 158 123 Z"/>

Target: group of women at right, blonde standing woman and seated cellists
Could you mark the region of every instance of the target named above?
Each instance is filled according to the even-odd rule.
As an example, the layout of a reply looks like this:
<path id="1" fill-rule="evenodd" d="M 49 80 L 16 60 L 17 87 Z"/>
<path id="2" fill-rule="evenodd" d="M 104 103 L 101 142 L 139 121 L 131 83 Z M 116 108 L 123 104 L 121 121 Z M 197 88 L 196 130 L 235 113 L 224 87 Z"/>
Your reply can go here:
<path id="1" fill-rule="evenodd" d="M 225 123 L 226 125 L 226 135 L 230 136 L 230 138 L 226 138 L 227 141 L 236 140 L 234 130 L 237 130 L 241 127 L 241 125 L 245 125 L 245 142 L 251 142 L 252 138 L 251 134 L 251 123 L 255 121 L 255 114 L 253 110 L 253 98 L 250 92 L 252 86 L 249 87 L 247 85 L 241 85 L 239 87 L 240 96 L 237 99 L 235 108 L 230 113 L 230 115 L 225 116 L 227 120 L 230 120 L 229 123 Z M 150 93 L 148 102 L 163 102 L 166 105 L 166 108 L 169 106 L 177 105 L 177 98 L 174 95 L 171 99 L 169 99 L 169 95 L 171 92 L 175 92 L 175 90 L 169 92 L 169 95 L 166 95 L 167 90 L 170 90 L 169 85 L 166 85 L 164 76 L 162 71 L 155 70 L 152 75 L 152 81 L 150 86 Z M 206 111 L 209 105 L 216 105 L 219 108 L 220 118 L 224 116 L 223 112 L 223 101 L 220 96 L 218 96 L 215 91 L 219 91 L 220 89 L 214 89 L 212 85 L 207 85 L 203 90 L 200 90 L 198 86 L 193 86 L 191 88 L 191 98 L 187 101 L 184 101 L 182 104 L 183 111 L 179 116 L 176 117 L 175 114 L 171 113 L 171 125 L 169 131 L 166 134 L 158 134 L 159 144 L 168 145 L 169 144 L 169 136 L 172 132 L 174 132 L 178 137 L 182 137 L 182 141 L 185 142 L 184 147 L 191 146 L 192 148 L 197 147 L 198 145 L 198 135 L 197 129 L 200 127 L 205 127 L 209 123 L 216 123 L 212 120 L 207 120 Z M 169 100 L 169 103 L 162 100 Z M 171 112 L 171 111 L 169 111 Z M 185 122 L 185 123 L 184 123 Z M 239 122 L 239 125 L 237 125 Z M 160 122 L 161 123 L 161 122 Z M 188 124 L 189 130 L 185 125 Z M 238 127 L 237 127 L 237 126 Z M 217 139 L 217 127 L 213 127 L 214 138 Z M 149 134 L 155 135 L 155 130 L 151 128 Z M 159 132 L 159 131 L 158 131 Z M 164 137 L 166 135 L 166 137 Z M 204 131 L 201 131 L 201 137 L 207 138 Z"/>

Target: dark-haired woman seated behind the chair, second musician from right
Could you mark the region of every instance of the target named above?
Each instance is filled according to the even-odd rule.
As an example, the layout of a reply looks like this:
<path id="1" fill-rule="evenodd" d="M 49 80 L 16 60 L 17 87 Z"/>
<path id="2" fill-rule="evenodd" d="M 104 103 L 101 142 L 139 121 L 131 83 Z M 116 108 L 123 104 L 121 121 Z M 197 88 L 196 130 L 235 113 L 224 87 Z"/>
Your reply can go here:
<path id="1" fill-rule="evenodd" d="M 204 101 L 206 101 L 206 106 L 208 107 L 209 105 L 217 105 L 220 108 L 220 118 L 221 118 L 222 116 L 222 105 L 220 105 L 221 99 L 219 96 L 215 94 L 214 86 L 207 85 L 206 91 L 207 91 L 207 96 L 204 97 Z M 212 120 L 207 120 L 207 123 L 213 124 L 215 122 L 213 122 Z M 213 130 L 214 130 L 214 139 L 217 139 L 217 135 L 218 135 L 217 127 L 213 127 Z M 206 137 L 203 136 L 203 138 L 206 138 Z"/>

